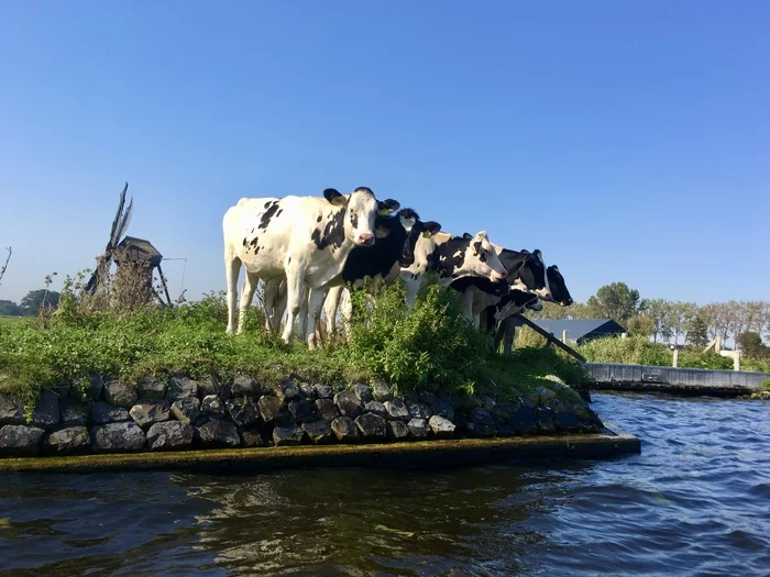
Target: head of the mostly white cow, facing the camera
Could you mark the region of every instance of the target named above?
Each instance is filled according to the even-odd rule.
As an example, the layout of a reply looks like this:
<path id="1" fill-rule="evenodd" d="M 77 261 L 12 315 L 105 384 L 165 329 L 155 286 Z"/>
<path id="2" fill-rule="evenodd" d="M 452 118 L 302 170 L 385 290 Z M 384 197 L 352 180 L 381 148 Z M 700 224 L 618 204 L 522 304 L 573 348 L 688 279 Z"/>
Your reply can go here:
<path id="1" fill-rule="evenodd" d="M 374 244 L 377 214 L 387 214 L 398 210 L 399 207 L 393 199 L 378 201 L 374 192 L 366 187 L 359 187 L 346 196 L 333 188 L 327 188 L 323 197 L 336 207 L 345 209 L 343 214 L 345 237 L 360 246 Z"/>

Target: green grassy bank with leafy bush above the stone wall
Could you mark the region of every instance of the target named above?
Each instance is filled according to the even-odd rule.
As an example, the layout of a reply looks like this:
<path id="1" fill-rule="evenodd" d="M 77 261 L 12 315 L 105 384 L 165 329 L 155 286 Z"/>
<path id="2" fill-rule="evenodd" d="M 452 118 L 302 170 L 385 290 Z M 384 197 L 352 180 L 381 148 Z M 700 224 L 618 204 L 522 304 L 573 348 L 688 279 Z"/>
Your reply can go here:
<path id="1" fill-rule="evenodd" d="M 72 295 L 44 321 L 0 323 L 0 390 L 33 400 L 42 389 L 96 374 L 138 382 L 146 375 L 186 373 L 231 378 L 249 374 L 266 384 L 288 375 L 338 384 L 383 377 L 400 390 L 471 393 L 490 387 L 529 392 L 546 375 L 570 384 L 582 367 L 549 349 L 519 349 L 503 358 L 460 317 L 457 296 L 429 287 L 411 312 L 400 287 L 377 290 L 374 304 L 358 299 L 350 343 L 328 337 L 308 351 L 284 345 L 251 310 L 244 334 L 224 332 L 221 296 L 174 309 L 133 314 L 82 312 Z"/>

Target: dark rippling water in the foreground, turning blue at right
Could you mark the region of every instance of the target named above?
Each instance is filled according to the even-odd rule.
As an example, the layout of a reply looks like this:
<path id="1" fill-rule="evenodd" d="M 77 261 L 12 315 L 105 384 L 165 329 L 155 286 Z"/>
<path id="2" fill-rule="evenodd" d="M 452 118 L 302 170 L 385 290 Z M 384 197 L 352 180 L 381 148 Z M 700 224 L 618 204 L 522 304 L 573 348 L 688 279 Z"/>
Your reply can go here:
<path id="1" fill-rule="evenodd" d="M 0 575 L 770 575 L 770 402 L 595 395 L 642 454 L 0 477 Z"/>

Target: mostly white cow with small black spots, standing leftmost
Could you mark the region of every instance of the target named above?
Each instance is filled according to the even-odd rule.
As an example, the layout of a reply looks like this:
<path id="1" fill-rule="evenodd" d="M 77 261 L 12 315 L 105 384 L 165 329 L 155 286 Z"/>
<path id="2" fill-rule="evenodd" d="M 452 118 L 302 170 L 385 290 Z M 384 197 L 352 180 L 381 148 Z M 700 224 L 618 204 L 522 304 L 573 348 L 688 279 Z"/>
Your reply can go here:
<path id="1" fill-rule="evenodd" d="M 228 281 L 228 333 L 235 329 L 238 277 L 241 266 L 246 279 L 241 296 L 238 332 L 243 330 L 245 310 L 262 278 L 286 278 L 287 320 L 282 337 L 288 343 L 300 309 L 302 284 L 309 300 L 320 302 L 326 285 L 342 273 L 354 246 L 375 243 L 378 212 L 398 210 L 397 201 L 377 201 L 371 189 L 359 187 L 350 195 L 333 188 L 318 197 L 241 199 L 222 220 L 224 268 Z M 315 322 L 315 319 L 309 319 Z M 270 320 L 267 322 L 270 329 Z M 312 335 L 315 331 L 309 331 Z M 314 346 L 308 336 L 308 345 Z"/>

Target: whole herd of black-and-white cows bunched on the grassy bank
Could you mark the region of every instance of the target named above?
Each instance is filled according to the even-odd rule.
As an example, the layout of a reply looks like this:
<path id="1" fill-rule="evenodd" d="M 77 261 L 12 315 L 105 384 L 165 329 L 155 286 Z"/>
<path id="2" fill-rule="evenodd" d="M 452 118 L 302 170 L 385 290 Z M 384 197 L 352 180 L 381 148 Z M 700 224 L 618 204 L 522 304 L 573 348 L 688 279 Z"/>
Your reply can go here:
<path id="1" fill-rule="evenodd" d="M 330 188 L 323 198 L 241 199 L 222 223 L 228 333 L 235 331 L 241 266 L 238 332 L 262 279 L 267 329 L 282 331 L 288 343 L 296 322 L 311 348 L 321 308 L 326 329 L 333 331 L 338 311 L 350 319 L 346 285 L 361 287 L 366 277 L 386 284 L 400 277 L 411 307 L 428 273 L 435 273 L 441 287 L 462 292 L 463 315 L 494 332 L 496 345 L 513 314 L 540 310 L 540 300 L 572 303 L 559 269 L 546 267 L 540 251 L 503 248 L 483 231 L 455 236 L 411 209 L 399 209 L 397 201 L 378 201 L 365 187 L 350 195 Z"/>

